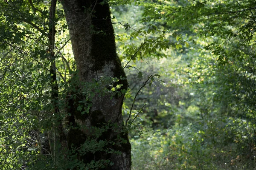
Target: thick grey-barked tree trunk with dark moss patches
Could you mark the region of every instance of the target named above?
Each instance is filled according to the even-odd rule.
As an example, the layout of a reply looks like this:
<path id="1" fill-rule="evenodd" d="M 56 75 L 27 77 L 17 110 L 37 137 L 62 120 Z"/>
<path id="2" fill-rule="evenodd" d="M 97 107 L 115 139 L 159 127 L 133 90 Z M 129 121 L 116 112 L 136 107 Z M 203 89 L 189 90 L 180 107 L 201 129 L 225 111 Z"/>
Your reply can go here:
<path id="1" fill-rule="evenodd" d="M 128 141 L 127 132 L 124 131 L 122 117 L 123 91 L 127 89 L 128 83 L 124 79 L 125 72 L 116 54 L 109 5 L 105 0 L 61 0 L 61 2 L 70 32 L 79 82 L 81 82 L 78 88 L 83 91 L 82 89 L 86 88 L 84 83 L 99 85 L 113 77 L 119 79 L 112 84 L 102 83 L 100 92 L 94 91 L 93 95 L 86 94 L 87 97 L 93 96 L 89 97 L 90 99 L 87 98 L 86 105 L 90 106 L 89 113 L 84 113 L 81 109 L 78 111 L 76 99 L 69 99 L 67 109 L 71 114 L 69 121 L 72 125 L 79 127 L 79 130 L 78 128 L 70 129 L 68 145 L 70 148 L 72 144 L 80 147 L 88 137 L 95 138 L 96 134 L 92 133 L 96 133 L 94 127 L 103 129 L 104 125 L 108 124 L 111 128 L 100 133 L 96 138 L 98 142 L 105 141 L 105 149 L 109 148 L 112 151 L 87 153 L 85 156 L 79 156 L 79 159 L 84 160 L 85 163 L 108 159 L 114 164 L 103 166 L 101 169 L 130 170 L 131 144 Z M 121 88 L 113 90 L 121 84 Z M 108 89 L 106 94 L 102 94 L 104 89 L 105 91 Z M 78 98 L 84 100 L 86 95 L 81 94 Z"/>

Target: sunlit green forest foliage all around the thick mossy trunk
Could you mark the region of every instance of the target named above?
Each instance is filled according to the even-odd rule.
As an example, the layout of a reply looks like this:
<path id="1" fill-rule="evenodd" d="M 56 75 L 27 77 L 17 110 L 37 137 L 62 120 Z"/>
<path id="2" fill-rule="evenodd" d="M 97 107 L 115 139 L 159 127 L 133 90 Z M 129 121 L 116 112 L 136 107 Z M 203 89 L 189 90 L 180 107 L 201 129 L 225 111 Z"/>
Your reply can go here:
<path id="1" fill-rule="evenodd" d="M 117 53 L 129 82 L 122 113 L 132 147 L 132 169 L 255 169 L 255 0 L 108 3 Z M 48 18 L 47 0 L 0 1 L 3 170 L 81 167 L 72 153 L 67 153 L 70 161 L 66 162 L 56 142 L 56 120 L 66 117 L 67 92 L 74 88 L 70 79 L 76 72 L 61 3 L 55 20 L 61 111 L 49 115 L 54 108 Z M 88 84 L 87 91 L 115 80 Z M 49 136 L 56 141 L 47 141 Z M 43 150 L 47 143 L 54 146 Z M 100 150 L 102 145 L 92 140 L 81 152 Z M 84 169 L 105 163 L 111 164 L 92 161 Z"/>

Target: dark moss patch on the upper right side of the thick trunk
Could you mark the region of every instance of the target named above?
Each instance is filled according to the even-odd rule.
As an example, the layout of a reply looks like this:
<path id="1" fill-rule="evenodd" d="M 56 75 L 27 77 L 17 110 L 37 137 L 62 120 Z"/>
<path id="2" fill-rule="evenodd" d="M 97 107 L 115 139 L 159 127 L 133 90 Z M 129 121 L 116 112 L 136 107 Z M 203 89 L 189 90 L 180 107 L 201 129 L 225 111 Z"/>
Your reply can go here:
<path id="1" fill-rule="evenodd" d="M 103 0 L 98 1 L 99 3 Z M 119 57 L 116 53 L 114 29 L 111 23 L 111 12 L 109 5 L 96 5 L 97 11 L 92 18 L 93 37 L 91 55 L 94 59 L 93 71 L 98 71 L 108 62 L 113 62 L 115 68 L 112 70 L 114 77 L 126 77 L 122 68 Z M 122 84 L 122 89 L 128 88 L 126 79 L 121 80 L 118 84 Z"/>

